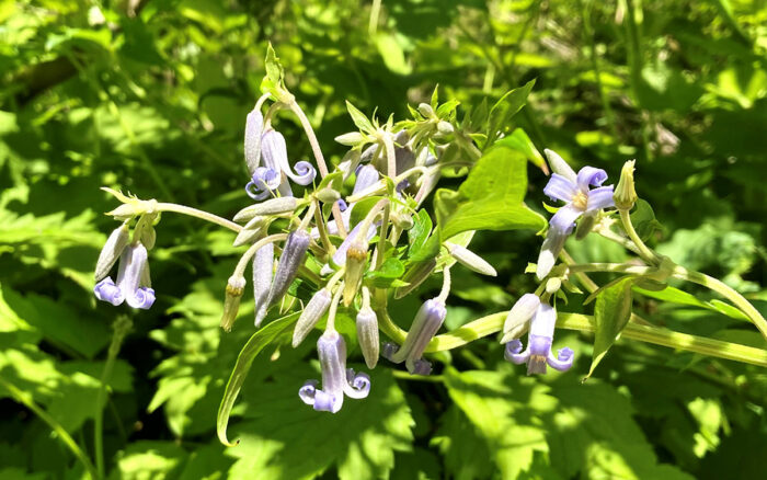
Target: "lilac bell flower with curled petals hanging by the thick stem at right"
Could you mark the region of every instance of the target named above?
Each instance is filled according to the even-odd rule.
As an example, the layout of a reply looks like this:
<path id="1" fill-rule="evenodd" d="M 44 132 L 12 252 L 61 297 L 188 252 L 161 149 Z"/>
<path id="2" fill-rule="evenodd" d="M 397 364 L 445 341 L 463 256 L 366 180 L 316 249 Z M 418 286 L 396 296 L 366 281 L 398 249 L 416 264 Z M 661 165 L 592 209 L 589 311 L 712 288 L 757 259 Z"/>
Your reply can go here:
<path id="1" fill-rule="evenodd" d="M 522 342 L 512 340 L 506 343 L 506 359 L 517 365 L 527 364 L 527 375 L 545 374 L 547 364 L 560 372 L 572 367 L 574 355 L 571 348 L 560 348 L 557 356 L 551 353 L 556 325 L 557 311 L 549 304 L 540 304 L 530 321 L 527 348 L 523 352 Z"/>

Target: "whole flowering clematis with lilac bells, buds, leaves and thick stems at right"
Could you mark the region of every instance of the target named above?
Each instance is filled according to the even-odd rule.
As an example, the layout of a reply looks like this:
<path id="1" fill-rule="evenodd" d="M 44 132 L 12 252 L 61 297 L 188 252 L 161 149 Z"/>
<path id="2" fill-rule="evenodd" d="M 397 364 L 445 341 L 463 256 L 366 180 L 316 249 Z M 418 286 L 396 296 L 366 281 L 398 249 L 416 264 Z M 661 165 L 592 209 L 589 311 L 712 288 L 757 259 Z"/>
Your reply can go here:
<path id="1" fill-rule="evenodd" d="M 632 313 L 634 285 L 652 283 L 659 290 L 667 287 L 668 279 L 682 279 L 721 294 L 732 304 L 731 315 L 747 318 L 767 335 L 765 319 L 737 292 L 660 255 L 637 233 L 630 215 L 639 202 L 633 161 L 626 163 L 614 187 L 605 185 L 605 170 L 581 165 L 576 172 L 552 150 L 546 150 L 547 167 L 523 130 L 505 130 L 518 107 L 503 116 L 499 112 L 508 112 L 503 102 L 524 104 L 531 88 L 533 82 L 504 95 L 492 108 L 477 108 L 462 118 L 458 102 L 439 103 L 436 90 L 430 103 L 411 107 L 411 118 L 400 122 L 369 118 L 347 102 L 356 130 L 336 138 L 348 151 L 328 163 L 270 47 L 263 94 L 244 118 L 244 160 L 250 175 L 245 192 L 254 203 L 229 220 L 190 206 L 144 201 L 105 188 L 122 202 L 108 214 L 122 225 L 99 258 L 94 294 L 114 306 L 151 307 L 156 297 L 149 284 L 148 251 L 162 213 L 188 215 L 233 232 L 232 244 L 244 251 L 221 286 L 221 328 L 253 333 L 238 357 L 219 409 L 218 436 L 227 445 L 234 445 L 227 437 L 229 413 L 253 356 L 268 343 L 289 342 L 299 347 L 314 334 L 321 382 L 297 385 L 296 400 L 332 413 L 341 411 L 345 397 L 376 395 L 367 373 L 347 368 L 358 359 L 347 356 L 342 332 L 348 331 L 356 332 L 359 359 L 369 369 L 404 363 L 410 375 L 420 376 L 449 362 L 439 356 L 440 362 L 435 363 L 432 354 L 499 333 L 505 351 L 502 354 L 499 348 L 499 358 L 504 355 L 515 364 L 526 364 L 527 374 L 543 374 L 548 367 L 580 370 L 582 365 L 575 359 L 580 362 L 583 355 L 566 346 L 554 353 L 557 328 L 595 332 L 589 375 L 620 335 L 767 366 L 767 355 L 758 348 L 671 332 Z M 290 163 L 285 138 L 278 125 L 273 125 L 281 110 L 294 114 L 301 125 L 313 165 Z M 561 202 L 548 229 L 542 215 L 524 202 L 528 160 L 543 172 L 549 168 L 553 172 L 538 192 Z M 440 188 L 432 195 L 445 176 L 466 179 L 457 191 Z M 242 180 L 248 179 L 243 175 Z M 428 198 L 433 210 L 423 207 Z M 499 275 L 493 264 L 470 249 L 474 232 L 483 229 L 545 231 L 539 253 L 522 252 L 538 253 L 537 264 L 527 270 L 535 273 L 530 292 L 519 292 L 523 295 L 508 313 L 492 313 L 438 334 L 450 315 L 450 271 L 456 263 L 471 274 Z M 615 241 L 636 258 L 626 263 L 576 263 L 566 252 L 566 242 L 588 235 Z M 107 274 L 117 262 L 117 281 L 113 282 Z M 253 271 L 254 327 L 236 322 L 241 302 L 250 295 L 249 266 Z M 619 276 L 599 286 L 588 277 L 592 272 Z M 433 276 L 443 281 L 436 296 L 426 282 Z M 581 288 L 589 293 L 585 305 L 596 300 L 594 316 L 565 311 L 568 296 L 581 294 Z M 407 296 L 417 296 L 421 305 L 410 324 L 407 319 L 392 318 L 389 309 L 390 302 Z M 355 328 L 336 329 L 339 312 L 354 319 Z M 526 345 L 522 341 L 525 333 Z M 389 362 L 379 363 L 379 356 Z"/>

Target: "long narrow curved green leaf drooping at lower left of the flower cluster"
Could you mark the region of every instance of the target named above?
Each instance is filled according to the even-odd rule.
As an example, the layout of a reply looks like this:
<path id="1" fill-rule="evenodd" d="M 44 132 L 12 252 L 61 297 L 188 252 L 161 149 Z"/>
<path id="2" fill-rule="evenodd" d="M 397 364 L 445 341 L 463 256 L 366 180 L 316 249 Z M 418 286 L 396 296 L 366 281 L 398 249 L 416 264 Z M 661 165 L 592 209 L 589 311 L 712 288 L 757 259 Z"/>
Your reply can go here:
<path id="1" fill-rule="evenodd" d="M 266 345 L 277 341 L 281 336 L 287 336 L 290 328 L 296 320 L 298 320 L 299 315 L 300 312 L 295 312 L 268 323 L 266 327 L 253 333 L 253 336 L 250 338 L 245 346 L 240 351 L 234 369 L 227 382 L 227 388 L 224 392 L 224 398 L 218 408 L 218 415 L 216 419 L 216 433 L 218 434 L 218 439 L 221 441 L 224 445 L 232 447 L 239 443 L 239 441 L 230 443 L 227 439 L 227 425 L 229 423 L 229 414 L 234 405 L 234 400 L 237 400 L 242 384 L 245 381 L 245 377 L 248 377 L 248 372 L 253 364 L 253 359 Z"/>

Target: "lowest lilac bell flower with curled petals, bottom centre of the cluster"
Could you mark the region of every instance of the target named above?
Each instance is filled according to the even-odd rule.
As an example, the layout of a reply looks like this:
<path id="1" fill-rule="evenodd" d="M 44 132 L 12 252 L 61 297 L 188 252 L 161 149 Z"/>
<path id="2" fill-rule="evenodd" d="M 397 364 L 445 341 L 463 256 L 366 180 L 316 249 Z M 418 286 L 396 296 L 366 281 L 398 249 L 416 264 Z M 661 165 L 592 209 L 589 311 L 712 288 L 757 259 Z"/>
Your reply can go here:
<path id="1" fill-rule="evenodd" d="M 362 399 L 370 392 L 370 377 L 346 368 L 346 343 L 335 329 L 327 330 L 317 341 L 317 353 L 322 369 L 322 389 L 317 380 L 304 384 L 298 396 L 314 410 L 335 413 L 344 403 L 344 396 Z"/>

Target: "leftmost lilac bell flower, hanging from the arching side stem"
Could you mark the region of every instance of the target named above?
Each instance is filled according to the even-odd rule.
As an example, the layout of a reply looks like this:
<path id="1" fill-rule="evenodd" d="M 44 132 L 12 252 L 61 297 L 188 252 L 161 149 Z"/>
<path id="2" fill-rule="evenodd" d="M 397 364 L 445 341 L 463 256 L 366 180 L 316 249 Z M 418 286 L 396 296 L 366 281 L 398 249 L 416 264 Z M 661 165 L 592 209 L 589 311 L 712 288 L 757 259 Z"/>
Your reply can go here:
<path id="1" fill-rule="evenodd" d="M 149 286 L 147 249 L 140 242 L 128 244 L 119 255 L 117 283 L 112 277 L 93 288 L 95 297 L 117 306 L 123 301 L 133 308 L 149 309 L 154 302 L 154 290 Z"/>

